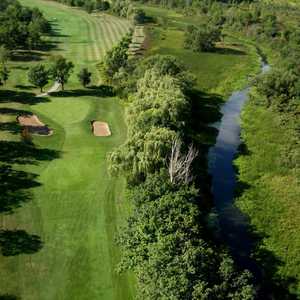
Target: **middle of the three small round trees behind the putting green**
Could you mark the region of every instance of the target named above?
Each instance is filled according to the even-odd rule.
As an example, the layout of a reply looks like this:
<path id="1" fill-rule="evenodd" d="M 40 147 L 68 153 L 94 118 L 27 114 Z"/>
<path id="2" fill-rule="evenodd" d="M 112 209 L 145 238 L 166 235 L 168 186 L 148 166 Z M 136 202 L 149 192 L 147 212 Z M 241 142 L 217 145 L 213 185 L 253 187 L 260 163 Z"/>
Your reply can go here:
<path id="1" fill-rule="evenodd" d="M 65 84 L 73 71 L 74 65 L 71 61 L 67 61 L 63 56 L 57 55 L 52 58 L 52 66 L 50 68 L 50 74 L 53 80 L 61 84 L 62 90 L 64 90 Z"/>

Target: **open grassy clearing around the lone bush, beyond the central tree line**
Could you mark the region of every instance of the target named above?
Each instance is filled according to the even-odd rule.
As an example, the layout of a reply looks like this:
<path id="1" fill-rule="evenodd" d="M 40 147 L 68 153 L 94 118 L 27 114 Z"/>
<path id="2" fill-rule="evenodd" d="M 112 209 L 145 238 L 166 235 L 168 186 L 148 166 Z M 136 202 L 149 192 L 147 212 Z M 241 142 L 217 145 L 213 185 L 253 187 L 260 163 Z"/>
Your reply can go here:
<path id="1" fill-rule="evenodd" d="M 215 52 L 196 53 L 184 48 L 184 30 L 187 25 L 199 24 L 199 17 L 186 17 L 174 10 L 154 6 L 141 7 L 149 16 L 163 23 L 149 29 L 148 55 L 178 57 L 196 75 L 199 89 L 226 97 L 245 86 L 247 78 L 259 71 L 258 56 L 251 45 L 226 36 Z"/>

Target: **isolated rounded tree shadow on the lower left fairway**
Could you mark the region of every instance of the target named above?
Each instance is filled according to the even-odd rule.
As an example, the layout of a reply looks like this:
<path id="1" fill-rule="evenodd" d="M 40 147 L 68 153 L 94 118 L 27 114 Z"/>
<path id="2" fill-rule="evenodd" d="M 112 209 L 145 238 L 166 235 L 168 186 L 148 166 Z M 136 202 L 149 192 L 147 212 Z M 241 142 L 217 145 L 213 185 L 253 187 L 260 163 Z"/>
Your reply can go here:
<path id="1" fill-rule="evenodd" d="M 25 230 L 0 230 L 0 251 L 3 256 L 34 254 L 42 246 L 38 235 L 28 234 Z"/>

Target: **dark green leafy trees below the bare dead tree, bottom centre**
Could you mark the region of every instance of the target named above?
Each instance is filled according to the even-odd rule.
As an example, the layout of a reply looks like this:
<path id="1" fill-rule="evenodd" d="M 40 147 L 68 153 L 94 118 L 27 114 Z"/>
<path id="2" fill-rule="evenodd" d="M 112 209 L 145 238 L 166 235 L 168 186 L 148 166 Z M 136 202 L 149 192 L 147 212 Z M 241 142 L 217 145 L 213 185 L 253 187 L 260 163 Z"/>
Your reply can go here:
<path id="1" fill-rule="evenodd" d="M 203 239 L 197 190 L 160 173 L 129 196 L 135 209 L 120 237 L 120 269 L 135 271 L 139 299 L 254 299 L 250 274 Z"/>

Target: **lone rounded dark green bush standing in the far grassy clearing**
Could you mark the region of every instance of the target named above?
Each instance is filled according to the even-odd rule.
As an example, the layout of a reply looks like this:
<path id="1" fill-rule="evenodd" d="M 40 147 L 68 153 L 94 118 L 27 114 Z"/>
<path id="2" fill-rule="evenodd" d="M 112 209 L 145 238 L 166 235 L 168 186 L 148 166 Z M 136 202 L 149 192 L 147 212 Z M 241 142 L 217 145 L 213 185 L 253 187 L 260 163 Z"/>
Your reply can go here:
<path id="1" fill-rule="evenodd" d="M 221 40 L 221 29 L 212 25 L 196 27 L 188 26 L 185 33 L 184 46 L 196 52 L 213 51 L 217 42 Z"/>

